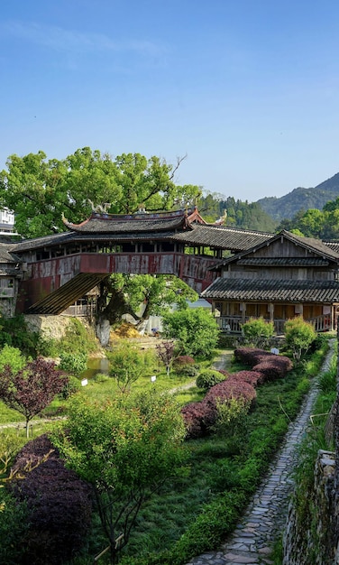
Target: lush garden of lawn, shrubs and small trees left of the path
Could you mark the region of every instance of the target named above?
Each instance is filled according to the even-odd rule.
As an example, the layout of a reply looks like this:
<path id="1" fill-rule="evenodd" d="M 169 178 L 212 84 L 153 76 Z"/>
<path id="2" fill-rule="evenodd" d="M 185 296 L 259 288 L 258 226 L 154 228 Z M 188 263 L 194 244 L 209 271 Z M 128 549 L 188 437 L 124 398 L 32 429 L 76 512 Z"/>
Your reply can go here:
<path id="1" fill-rule="evenodd" d="M 184 565 L 215 548 L 267 471 L 328 349 L 298 319 L 276 355 L 256 347 L 262 328 L 253 325 L 244 328 L 247 343 L 227 352 L 232 361 L 215 370 L 224 353 L 215 320 L 174 312 L 156 347 L 121 340 L 107 353 L 109 375 L 84 386 L 79 375 L 96 340 L 77 321 L 63 342 L 47 343 L 4 320 L 0 423 L 28 425 L 0 431 L 0 562 L 89 565 L 102 554 L 103 565 Z M 52 370 L 53 400 L 42 378 L 47 371 L 50 384 Z M 14 394 L 32 375 L 40 375 L 39 403 L 27 391 Z M 332 386 L 323 379 L 326 403 Z"/>

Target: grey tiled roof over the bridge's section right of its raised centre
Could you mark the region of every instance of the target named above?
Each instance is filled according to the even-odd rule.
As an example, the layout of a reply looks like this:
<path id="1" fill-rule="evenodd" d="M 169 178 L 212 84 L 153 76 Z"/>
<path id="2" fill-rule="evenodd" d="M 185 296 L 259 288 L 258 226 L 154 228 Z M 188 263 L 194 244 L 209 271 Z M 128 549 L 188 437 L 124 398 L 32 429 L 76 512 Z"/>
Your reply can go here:
<path id="1" fill-rule="evenodd" d="M 192 226 L 189 232 L 175 234 L 174 241 L 188 245 L 206 245 L 230 251 L 243 251 L 267 241 L 272 234 L 223 226 Z"/>

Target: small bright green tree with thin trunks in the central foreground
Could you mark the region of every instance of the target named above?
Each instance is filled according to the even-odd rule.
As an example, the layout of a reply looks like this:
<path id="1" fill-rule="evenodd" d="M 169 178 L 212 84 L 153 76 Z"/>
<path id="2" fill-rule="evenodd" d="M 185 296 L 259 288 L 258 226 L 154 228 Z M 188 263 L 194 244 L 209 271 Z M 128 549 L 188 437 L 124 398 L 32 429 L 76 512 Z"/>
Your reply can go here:
<path id="1" fill-rule="evenodd" d="M 183 420 L 172 397 L 154 390 L 98 405 L 75 397 L 56 445 L 66 464 L 92 483 L 111 563 L 127 544 L 142 504 L 178 475 Z"/>

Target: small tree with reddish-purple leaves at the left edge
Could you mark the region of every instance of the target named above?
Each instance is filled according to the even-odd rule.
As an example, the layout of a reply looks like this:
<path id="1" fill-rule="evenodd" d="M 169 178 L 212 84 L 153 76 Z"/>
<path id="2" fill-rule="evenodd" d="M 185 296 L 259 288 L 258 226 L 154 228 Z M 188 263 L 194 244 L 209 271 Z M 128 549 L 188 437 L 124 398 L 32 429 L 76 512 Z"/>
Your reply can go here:
<path id="1" fill-rule="evenodd" d="M 0 399 L 9 408 L 23 414 L 27 438 L 29 422 L 51 403 L 68 382 L 68 377 L 54 367 L 53 362 L 39 357 L 16 374 L 9 365 L 0 372 Z"/>

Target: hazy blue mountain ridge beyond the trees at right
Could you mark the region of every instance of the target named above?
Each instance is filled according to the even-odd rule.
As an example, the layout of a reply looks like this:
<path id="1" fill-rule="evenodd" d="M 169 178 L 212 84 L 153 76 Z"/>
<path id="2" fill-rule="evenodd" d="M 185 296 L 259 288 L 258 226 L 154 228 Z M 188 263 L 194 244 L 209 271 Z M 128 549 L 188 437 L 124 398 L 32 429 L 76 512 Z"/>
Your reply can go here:
<path id="1" fill-rule="evenodd" d="M 257 200 L 257 204 L 277 221 L 291 219 L 301 209 L 317 208 L 322 210 L 325 203 L 339 197 L 339 172 L 327 181 L 321 182 L 313 189 L 298 187 L 285 196 L 275 196 Z"/>

